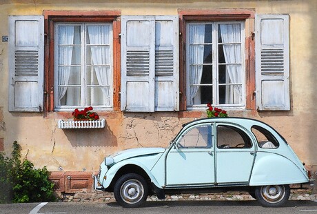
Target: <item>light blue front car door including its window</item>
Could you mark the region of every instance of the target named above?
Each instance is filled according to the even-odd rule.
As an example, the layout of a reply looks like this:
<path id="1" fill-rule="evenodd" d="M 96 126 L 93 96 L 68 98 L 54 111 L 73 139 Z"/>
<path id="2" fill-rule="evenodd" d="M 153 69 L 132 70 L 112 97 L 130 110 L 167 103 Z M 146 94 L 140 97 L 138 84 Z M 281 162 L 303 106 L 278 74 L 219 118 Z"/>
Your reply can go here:
<path id="1" fill-rule="evenodd" d="M 176 139 L 166 157 L 167 186 L 214 184 L 212 133 L 211 124 L 199 124 Z"/>

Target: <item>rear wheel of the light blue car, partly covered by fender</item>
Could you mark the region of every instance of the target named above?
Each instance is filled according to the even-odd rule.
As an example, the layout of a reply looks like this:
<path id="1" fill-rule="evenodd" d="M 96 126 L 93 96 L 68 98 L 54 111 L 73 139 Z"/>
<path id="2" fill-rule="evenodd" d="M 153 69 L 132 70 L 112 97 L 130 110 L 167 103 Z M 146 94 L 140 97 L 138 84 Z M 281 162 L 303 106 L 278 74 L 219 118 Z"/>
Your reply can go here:
<path id="1" fill-rule="evenodd" d="M 256 186 L 254 193 L 263 206 L 278 207 L 287 202 L 290 189 L 289 185 Z"/>

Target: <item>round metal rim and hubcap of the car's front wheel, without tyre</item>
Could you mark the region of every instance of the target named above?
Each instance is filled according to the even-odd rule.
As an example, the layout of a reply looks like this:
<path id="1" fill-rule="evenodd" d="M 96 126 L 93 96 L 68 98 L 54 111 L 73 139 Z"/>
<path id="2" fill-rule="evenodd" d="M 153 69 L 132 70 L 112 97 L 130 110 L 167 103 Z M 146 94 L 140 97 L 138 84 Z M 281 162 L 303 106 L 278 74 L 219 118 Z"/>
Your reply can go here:
<path id="1" fill-rule="evenodd" d="M 129 179 L 122 184 L 120 195 L 124 202 L 135 204 L 142 200 L 144 195 L 143 185 L 137 179 Z"/>

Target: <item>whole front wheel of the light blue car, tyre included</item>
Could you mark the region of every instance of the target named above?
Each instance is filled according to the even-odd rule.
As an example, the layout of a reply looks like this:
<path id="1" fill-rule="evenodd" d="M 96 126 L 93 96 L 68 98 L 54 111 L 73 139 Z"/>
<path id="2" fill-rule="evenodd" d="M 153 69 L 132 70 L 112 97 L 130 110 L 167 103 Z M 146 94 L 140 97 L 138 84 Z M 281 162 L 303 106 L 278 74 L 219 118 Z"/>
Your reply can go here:
<path id="1" fill-rule="evenodd" d="M 126 208 L 141 206 L 146 201 L 147 194 L 147 182 L 135 173 L 121 176 L 114 184 L 116 202 Z"/>

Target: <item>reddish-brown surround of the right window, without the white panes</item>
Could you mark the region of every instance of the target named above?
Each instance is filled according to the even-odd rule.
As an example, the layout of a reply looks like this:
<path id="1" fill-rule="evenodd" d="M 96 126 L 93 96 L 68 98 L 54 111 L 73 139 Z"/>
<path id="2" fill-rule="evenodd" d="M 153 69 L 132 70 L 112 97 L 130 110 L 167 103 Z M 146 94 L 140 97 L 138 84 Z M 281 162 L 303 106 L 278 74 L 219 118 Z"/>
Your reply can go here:
<path id="1" fill-rule="evenodd" d="M 255 49 L 254 49 L 254 17 L 255 11 L 249 9 L 219 9 L 219 10 L 178 10 L 180 18 L 180 110 L 194 111 L 202 110 L 187 107 L 187 82 L 186 82 L 186 30 L 189 22 L 225 22 L 225 21 L 244 21 L 245 22 L 245 106 L 243 108 L 227 107 L 234 110 L 252 110 L 255 108 Z M 223 108 L 223 106 L 221 106 Z M 205 108 L 204 108 L 205 110 Z"/>

